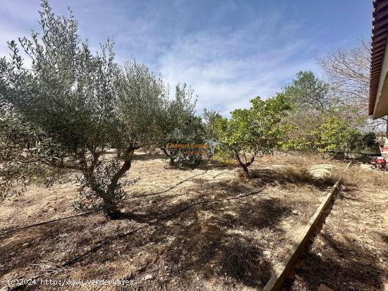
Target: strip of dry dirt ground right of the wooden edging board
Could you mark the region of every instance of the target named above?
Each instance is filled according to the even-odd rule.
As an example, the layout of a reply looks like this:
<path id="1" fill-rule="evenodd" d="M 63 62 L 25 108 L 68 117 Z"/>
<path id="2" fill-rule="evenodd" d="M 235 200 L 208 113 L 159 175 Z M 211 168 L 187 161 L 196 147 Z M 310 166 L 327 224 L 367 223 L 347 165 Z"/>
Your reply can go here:
<path id="1" fill-rule="evenodd" d="M 286 290 L 388 290 L 388 174 L 352 166 Z"/>

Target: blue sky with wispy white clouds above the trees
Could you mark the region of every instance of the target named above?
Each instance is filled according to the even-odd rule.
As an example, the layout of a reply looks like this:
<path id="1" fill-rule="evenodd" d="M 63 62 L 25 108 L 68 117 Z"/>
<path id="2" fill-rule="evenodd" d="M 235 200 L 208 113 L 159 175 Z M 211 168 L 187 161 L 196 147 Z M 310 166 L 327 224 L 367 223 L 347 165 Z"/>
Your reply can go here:
<path id="1" fill-rule="evenodd" d="M 38 0 L 0 0 L 0 56 L 6 40 L 37 29 Z M 169 82 L 186 82 L 198 111 L 249 106 L 273 96 L 317 54 L 370 39 L 372 0 L 50 1 L 71 6 L 82 39 L 97 49 L 114 37 L 117 61 L 147 63 Z"/>

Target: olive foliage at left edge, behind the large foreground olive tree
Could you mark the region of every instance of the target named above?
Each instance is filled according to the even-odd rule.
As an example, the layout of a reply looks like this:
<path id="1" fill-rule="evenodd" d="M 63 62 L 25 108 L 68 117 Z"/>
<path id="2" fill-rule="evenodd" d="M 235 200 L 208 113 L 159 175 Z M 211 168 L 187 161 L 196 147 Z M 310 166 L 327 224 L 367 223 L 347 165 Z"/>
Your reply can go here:
<path id="1" fill-rule="evenodd" d="M 40 128 L 28 123 L 0 95 L 0 202 L 8 194 L 23 192 L 32 179 L 48 184 L 63 172 L 47 166 L 49 161 L 44 156 L 50 142 Z"/>

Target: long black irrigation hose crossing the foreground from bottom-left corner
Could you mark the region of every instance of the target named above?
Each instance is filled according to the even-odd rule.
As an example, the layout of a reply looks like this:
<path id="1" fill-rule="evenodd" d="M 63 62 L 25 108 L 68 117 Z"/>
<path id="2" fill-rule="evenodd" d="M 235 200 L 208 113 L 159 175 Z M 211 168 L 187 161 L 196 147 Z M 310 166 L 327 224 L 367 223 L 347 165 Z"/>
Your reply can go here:
<path id="1" fill-rule="evenodd" d="M 110 237 L 108 240 L 104 240 L 103 242 L 97 244 L 95 247 L 92 247 L 92 249 L 88 250 L 87 252 L 83 253 L 83 254 L 80 254 L 79 256 L 76 256 L 74 259 L 71 259 L 70 261 L 66 261 L 65 263 L 61 264 L 60 266 L 56 266 L 57 268 L 64 268 L 66 266 L 70 266 L 71 264 L 74 264 L 76 261 L 80 260 L 80 259 L 83 259 L 85 256 L 87 256 L 88 254 L 91 254 L 92 252 L 95 252 L 97 251 L 98 249 L 101 249 L 102 247 L 106 246 L 107 244 L 109 244 L 110 242 L 113 242 L 114 240 L 118 240 L 118 239 L 121 239 L 123 237 L 128 237 L 129 235 L 133 235 L 133 233 L 136 233 L 138 232 L 138 230 L 142 230 L 143 228 L 147 228 L 149 227 L 150 225 L 154 225 L 154 224 L 157 224 L 159 223 L 160 221 L 164 221 L 166 218 L 169 218 L 171 216 L 175 216 L 176 214 L 178 213 L 181 213 L 183 211 L 186 211 L 194 206 L 197 206 L 197 205 L 200 205 L 200 204 L 209 204 L 209 203 L 213 203 L 213 202 L 222 202 L 222 201 L 228 201 L 228 200 L 234 200 L 234 199 L 240 199 L 240 198 L 243 198 L 243 197 L 247 197 L 247 196 L 250 196 L 250 195 L 253 195 L 253 194 L 257 194 L 257 193 L 260 193 L 262 192 L 262 190 L 264 190 L 265 187 L 261 187 L 259 190 L 255 190 L 255 191 L 252 191 L 252 192 L 248 192 L 248 193 L 245 193 L 245 194 L 238 194 L 234 197 L 229 197 L 229 198 L 222 198 L 222 199 L 209 199 L 209 200 L 203 200 L 203 201 L 200 201 L 200 202 L 195 202 L 193 204 L 190 204 L 186 207 L 183 207 L 181 209 L 178 209 L 177 211 L 174 211 L 172 213 L 169 213 L 169 214 L 166 214 L 165 216 L 162 216 L 160 218 L 157 218 L 156 221 L 152 221 L 150 223 L 145 223 L 145 225 L 143 226 L 140 226 L 138 228 L 135 228 L 134 230 L 131 230 L 129 231 L 128 233 L 122 233 L 121 235 L 116 235 L 115 237 Z M 49 271 L 47 273 L 51 273 L 52 271 Z M 47 274 L 42 274 L 42 275 L 37 275 L 36 277 L 34 278 L 30 278 L 30 279 L 27 279 L 26 281 L 27 282 L 31 282 L 31 280 L 36 280 L 37 278 L 40 278 L 42 277 L 43 275 L 47 275 Z M 9 291 L 11 290 L 22 290 L 26 285 L 18 285 L 18 286 L 14 286 L 12 287 Z"/>

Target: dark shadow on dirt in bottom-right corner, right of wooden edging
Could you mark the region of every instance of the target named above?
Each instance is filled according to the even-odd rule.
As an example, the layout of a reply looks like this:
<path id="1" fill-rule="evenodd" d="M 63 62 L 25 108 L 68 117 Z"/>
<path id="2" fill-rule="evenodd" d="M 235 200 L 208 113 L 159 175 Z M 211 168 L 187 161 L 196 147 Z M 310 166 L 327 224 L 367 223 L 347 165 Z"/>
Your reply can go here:
<path id="1" fill-rule="evenodd" d="M 286 281 L 286 290 L 317 290 L 322 283 L 333 290 L 383 290 L 388 271 L 377 255 L 354 242 L 320 234 L 322 254 L 309 247 L 296 265 L 298 280 Z M 325 254 L 325 252 L 327 252 Z"/>

